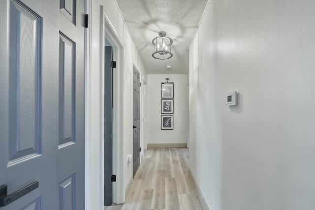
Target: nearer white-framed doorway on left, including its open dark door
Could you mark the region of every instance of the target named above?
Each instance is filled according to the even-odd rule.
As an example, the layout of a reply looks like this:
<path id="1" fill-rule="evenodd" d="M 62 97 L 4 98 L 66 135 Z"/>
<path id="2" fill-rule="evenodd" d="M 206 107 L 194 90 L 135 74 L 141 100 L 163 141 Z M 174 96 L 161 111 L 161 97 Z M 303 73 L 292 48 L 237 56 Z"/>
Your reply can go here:
<path id="1" fill-rule="evenodd" d="M 101 201 L 122 204 L 124 193 L 124 44 L 101 6 Z M 112 61 L 116 61 L 113 64 Z M 116 67 L 116 68 L 114 68 Z M 106 71 L 107 70 L 107 71 Z M 107 97 L 107 98 L 106 98 Z M 108 102 L 110 100 L 110 102 Z M 109 119 L 108 119 L 109 118 Z M 110 119 L 111 118 L 111 119 Z M 116 181 L 112 182 L 112 175 Z"/>

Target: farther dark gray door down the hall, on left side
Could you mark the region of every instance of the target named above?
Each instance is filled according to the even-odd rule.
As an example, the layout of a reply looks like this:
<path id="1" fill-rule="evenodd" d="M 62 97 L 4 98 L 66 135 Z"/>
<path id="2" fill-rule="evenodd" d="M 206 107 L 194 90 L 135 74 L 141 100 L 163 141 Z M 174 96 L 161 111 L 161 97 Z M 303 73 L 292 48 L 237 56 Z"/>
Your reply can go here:
<path id="1" fill-rule="evenodd" d="M 140 75 L 133 70 L 133 176 L 140 165 Z"/>

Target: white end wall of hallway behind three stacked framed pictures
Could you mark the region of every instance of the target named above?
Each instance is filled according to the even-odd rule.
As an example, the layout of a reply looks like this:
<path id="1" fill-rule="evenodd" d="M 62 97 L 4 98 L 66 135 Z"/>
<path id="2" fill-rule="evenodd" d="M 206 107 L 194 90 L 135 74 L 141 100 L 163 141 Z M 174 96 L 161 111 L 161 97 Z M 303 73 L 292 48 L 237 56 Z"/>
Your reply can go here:
<path id="1" fill-rule="evenodd" d="M 161 82 L 174 82 L 174 130 L 161 130 Z M 147 143 L 187 143 L 188 89 L 186 74 L 148 74 Z"/>

